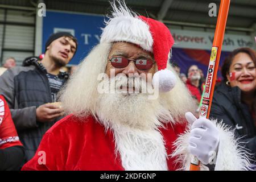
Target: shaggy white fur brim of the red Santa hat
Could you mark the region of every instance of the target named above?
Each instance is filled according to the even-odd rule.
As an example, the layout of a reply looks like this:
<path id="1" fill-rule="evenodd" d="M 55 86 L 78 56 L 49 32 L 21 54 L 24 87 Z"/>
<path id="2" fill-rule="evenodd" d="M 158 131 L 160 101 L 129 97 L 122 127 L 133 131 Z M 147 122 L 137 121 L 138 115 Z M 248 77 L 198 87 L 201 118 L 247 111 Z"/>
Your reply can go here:
<path id="1" fill-rule="evenodd" d="M 148 24 L 131 12 L 123 3 L 117 7 L 112 3 L 113 17 L 106 21 L 102 28 L 101 43 L 130 42 L 152 52 L 153 38 Z"/>

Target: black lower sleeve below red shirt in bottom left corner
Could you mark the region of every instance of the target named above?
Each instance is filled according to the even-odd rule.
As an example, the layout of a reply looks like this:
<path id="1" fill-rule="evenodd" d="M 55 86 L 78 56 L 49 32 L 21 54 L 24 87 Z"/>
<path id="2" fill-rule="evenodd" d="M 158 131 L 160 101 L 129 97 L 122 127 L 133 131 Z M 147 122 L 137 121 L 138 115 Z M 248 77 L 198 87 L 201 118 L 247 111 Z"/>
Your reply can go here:
<path id="1" fill-rule="evenodd" d="M 24 162 L 24 148 L 13 146 L 0 150 L 0 170 L 17 171 L 20 170 Z"/>

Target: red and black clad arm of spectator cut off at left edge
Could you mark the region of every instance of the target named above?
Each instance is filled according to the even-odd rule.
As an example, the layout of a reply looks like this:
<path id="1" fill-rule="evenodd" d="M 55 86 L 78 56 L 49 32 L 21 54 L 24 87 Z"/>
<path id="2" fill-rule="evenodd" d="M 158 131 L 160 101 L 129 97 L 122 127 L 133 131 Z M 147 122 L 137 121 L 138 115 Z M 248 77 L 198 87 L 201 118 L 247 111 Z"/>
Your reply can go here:
<path id="1" fill-rule="evenodd" d="M 10 109 L 0 95 L 0 170 L 19 170 L 24 162 L 24 148 L 19 141 Z"/>

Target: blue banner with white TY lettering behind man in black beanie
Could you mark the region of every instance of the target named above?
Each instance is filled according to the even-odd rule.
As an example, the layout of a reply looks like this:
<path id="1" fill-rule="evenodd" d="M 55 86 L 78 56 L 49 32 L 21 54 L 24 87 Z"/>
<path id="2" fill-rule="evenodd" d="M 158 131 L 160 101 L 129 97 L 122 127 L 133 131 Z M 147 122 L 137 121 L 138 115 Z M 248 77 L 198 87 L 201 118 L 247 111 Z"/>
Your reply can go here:
<path id="1" fill-rule="evenodd" d="M 79 64 L 90 49 L 99 42 L 101 27 L 104 27 L 104 16 L 101 15 L 47 11 L 43 18 L 42 53 L 47 39 L 53 32 L 70 32 L 78 40 L 78 49 L 69 64 Z"/>

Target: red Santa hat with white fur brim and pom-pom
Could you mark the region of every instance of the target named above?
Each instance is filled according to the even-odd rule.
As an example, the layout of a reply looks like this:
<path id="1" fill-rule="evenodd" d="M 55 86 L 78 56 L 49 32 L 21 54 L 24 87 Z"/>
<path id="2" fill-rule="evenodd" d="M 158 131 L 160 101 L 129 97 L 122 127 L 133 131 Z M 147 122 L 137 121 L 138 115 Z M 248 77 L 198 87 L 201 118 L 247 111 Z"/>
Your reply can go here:
<path id="1" fill-rule="evenodd" d="M 158 72 L 154 74 L 153 85 L 159 86 L 160 92 L 174 88 L 176 77 L 167 68 L 171 47 L 174 44 L 170 30 L 158 20 L 138 16 L 130 11 L 125 3 L 117 7 L 112 3 L 112 18 L 106 23 L 101 35 L 101 43 L 129 42 L 154 54 Z"/>

